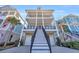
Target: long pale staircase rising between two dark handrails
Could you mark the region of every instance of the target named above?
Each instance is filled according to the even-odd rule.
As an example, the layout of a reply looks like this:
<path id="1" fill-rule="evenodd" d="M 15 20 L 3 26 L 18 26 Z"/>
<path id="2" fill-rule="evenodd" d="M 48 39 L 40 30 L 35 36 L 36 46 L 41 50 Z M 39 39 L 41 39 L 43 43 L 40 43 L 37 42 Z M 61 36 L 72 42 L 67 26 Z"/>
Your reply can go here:
<path id="1" fill-rule="evenodd" d="M 38 28 L 32 46 L 32 53 L 50 53 L 42 28 Z"/>

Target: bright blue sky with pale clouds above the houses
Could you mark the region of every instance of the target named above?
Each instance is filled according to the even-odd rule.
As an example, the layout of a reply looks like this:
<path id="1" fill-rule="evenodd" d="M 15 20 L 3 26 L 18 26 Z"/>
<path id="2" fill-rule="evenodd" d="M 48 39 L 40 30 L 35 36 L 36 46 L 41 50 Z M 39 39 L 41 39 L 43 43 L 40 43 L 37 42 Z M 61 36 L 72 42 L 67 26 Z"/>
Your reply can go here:
<path id="1" fill-rule="evenodd" d="M 41 7 L 42 9 L 54 10 L 53 15 L 55 20 L 59 20 L 63 16 L 66 16 L 68 14 L 79 15 L 79 5 L 12 5 L 12 6 L 19 11 L 23 19 L 26 18 L 25 10 L 36 9 L 38 7 Z"/>

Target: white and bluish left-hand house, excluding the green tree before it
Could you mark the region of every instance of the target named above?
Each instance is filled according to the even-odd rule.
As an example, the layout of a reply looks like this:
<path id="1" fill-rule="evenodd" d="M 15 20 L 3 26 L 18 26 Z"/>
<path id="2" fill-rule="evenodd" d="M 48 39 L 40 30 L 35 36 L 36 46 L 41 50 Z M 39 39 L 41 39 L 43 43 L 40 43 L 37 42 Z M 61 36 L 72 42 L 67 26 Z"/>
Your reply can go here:
<path id="1" fill-rule="evenodd" d="M 3 35 L 4 32 L 0 33 L 0 37 L 3 36 L 4 40 L 6 42 L 7 41 L 19 40 L 23 25 L 21 23 L 18 23 L 12 29 L 13 25 L 10 22 L 7 21 L 8 17 L 15 17 L 17 20 L 23 21 L 23 19 L 20 16 L 19 12 L 15 8 L 13 8 L 12 6 L 9 6 L 9 5 L 2 6 L 2 7 L 0 7 L 0 17 L 4 17 L 2 19 L 3 21 L 1 22 L 1 25 L 0 25 L 0 31 L 4 31 L 5 32 L 5 35 Z M 9 35 L 8 35 L 8 33 L 9 33 Z M 11 35 L 13 35 L 13 36 L 10 37 Z M 3 39 L 3 37 L 2 37 L 2 39 Z M 8 38 L 6 39 L 5 37 L 6 38 L 8 37 Z M 2 40 L 2 39 L 0 38 L 0 40 Z"/>

